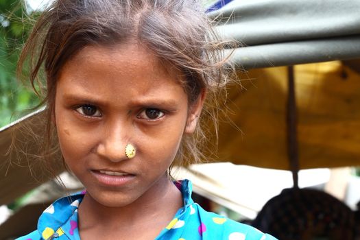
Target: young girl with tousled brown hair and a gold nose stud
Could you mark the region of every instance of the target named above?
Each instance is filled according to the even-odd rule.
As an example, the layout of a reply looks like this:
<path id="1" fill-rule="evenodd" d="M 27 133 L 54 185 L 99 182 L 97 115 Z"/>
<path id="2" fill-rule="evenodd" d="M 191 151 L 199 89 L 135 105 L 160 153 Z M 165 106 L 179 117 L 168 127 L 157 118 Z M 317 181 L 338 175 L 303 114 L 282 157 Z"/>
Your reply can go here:
<path id="1" fill-rule="evenodd" d="M 56 129 L 86 191 L 51 204 L 20 239 L 274 239 L 204 211 L 189 180 L 169 177 L 174 163 L 202 156 L 200 113 L 214 115 L 227 82 L 216 39 L 194 0 L 58 0 L 45 10 L 19 67 L 29 63 L 33 86 L 44 69 L 47 132 Z"/>

